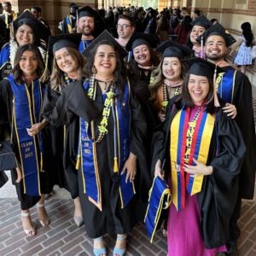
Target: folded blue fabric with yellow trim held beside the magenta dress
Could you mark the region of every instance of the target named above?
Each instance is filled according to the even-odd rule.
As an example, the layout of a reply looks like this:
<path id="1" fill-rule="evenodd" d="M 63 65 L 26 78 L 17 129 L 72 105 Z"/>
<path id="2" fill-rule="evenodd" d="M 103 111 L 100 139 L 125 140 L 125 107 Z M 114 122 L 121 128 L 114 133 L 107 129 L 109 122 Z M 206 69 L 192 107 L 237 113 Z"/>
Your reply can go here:
<path id="1" fill-rule="evenodd" d="M 154 177 L 153 185 L 149 190 L 148 208 L 144 222 L 150 242 L 154 239 L 154 234 L 163 209 L 167 209 L 172 201 L 171 191 L 166 180 Z"/>

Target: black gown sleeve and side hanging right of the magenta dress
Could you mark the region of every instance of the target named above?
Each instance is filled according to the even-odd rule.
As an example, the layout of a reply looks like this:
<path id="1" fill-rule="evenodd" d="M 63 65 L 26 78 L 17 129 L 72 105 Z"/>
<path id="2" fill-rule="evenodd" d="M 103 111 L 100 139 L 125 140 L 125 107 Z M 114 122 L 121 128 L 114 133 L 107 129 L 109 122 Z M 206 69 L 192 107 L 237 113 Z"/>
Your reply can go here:
<path id="1" fill-rule="evenodd" d="M 236 205 L 245 152 L 238 125 L 219 110 L 207 161 L 213 172 L 204 177 L 203 188 L 198 195 L 201 233 L 207 248 L 219 247 L 229 239 L 230 218 Z"/>

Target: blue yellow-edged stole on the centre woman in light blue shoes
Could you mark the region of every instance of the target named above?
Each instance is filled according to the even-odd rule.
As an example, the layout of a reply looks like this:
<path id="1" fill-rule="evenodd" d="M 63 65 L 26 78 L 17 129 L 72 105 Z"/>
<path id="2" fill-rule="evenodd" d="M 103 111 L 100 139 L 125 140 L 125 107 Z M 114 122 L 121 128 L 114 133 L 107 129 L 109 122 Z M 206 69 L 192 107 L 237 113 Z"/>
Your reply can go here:
<path id="1" fill-rule="evenodd" d="M 84 90 L 88 91 L 89 89 L 89 81 L 84 83 Z M 119 91 L 115 89 L 115 94 L 119 95 Z M 115 115 L 116 119 L 116 130 L 117 137 L 114 139 L 117 143 L 118 147 L 118 159 L 119 166 L 118 172 L 116 175 L 119 175 L 119 198 L 121 202 L 121 208 L 124 208 L 129 201 L 131 201 L 133 195 L 136 194 L 133 183 L 125 183 L 126 172 L 121 175 L 120 172 L 125 165 L 125 161 L 127 160 L 130 154 L 130 126 L 131 126 L 131 113 L 129 106 L 129 98 L 130 98 L 130 85 L 125 84 L 125 91 L 122 98 L 122 102 L 120 98 L 117 98 L 115 102 Z M 103 101 L 106 100 L 106 97 Z M 111 113 L 108 119 L 111 118 Z M 107 126 L 108 128 L 108 126 Z M 112 132 L 112 131 L 108 131 Z M 102 189 L 101 189 L 101 180 L 99 176 L 99 170 L 97 165 L 97 157 L 96 154 L 96 145 L 91 139 L 94 137 L 94 121 L 91 124 L 88 124 L 84 119 L 80 118 L 80 142 L 79 142 L 79 152 L 82 155 L 82 177 L 84 184 L 84 194 L 88 195 L 89 200 L 96 205 L 102 211 Z M 114 147 L 114 145 L 113 145 Z M 99 156 L 100 157 L 100 156 Z M 106 163 L 108 166 L 108 163 Z M 114 172 L 114 171 L 113 171 Z"/>

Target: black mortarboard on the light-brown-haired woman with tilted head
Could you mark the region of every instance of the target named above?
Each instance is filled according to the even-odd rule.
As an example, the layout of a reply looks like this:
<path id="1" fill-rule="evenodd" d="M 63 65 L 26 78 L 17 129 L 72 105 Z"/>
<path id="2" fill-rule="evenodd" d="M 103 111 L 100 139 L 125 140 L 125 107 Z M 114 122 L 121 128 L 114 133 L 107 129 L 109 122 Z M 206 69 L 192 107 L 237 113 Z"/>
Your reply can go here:
<path id="1" fill-rule="evenodd" d="M 65 47 L 71 47 L 79 50 L 81 37 L 81 33 L 68 33 L 50 37 L 48 43 L 49 55 L 54 55 L 55 51 Z"/>

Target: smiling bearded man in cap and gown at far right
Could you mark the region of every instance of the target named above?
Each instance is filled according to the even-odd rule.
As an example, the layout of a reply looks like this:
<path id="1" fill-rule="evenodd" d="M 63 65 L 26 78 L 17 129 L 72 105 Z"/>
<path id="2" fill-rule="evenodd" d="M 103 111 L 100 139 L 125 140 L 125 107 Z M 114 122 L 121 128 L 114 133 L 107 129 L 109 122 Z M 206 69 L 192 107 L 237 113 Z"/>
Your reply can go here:
<path id="1" fill-rule="evenodd" d="M 237 255 L 236 241 L 240 236 L 237 225 L 241 211 L 241 199 L 253 199 L 254 180 L 256 171 L 256 137 L 253 120 L 252 85 L 247 76 L 230 67 L 224 57 L 228 47 L 236 42 L 223 26 L 215 24 L 203 35 L 207 61 L 211 61 L 224 69 L 224 73 L 218 75 L 216 86 L 218 95 L 224 102 L 230 102 L 236 106 L 236 122 L 241 129 L 244 142 L 247 147 L 246 158 L 241 166 L 239 195 L 230 223 L 230 241 L 228 247 L 231 255 Z M 201 38 L 198 38 L 201 41 Z M 232 254 L 233 253 L 233 254 Z"/>

